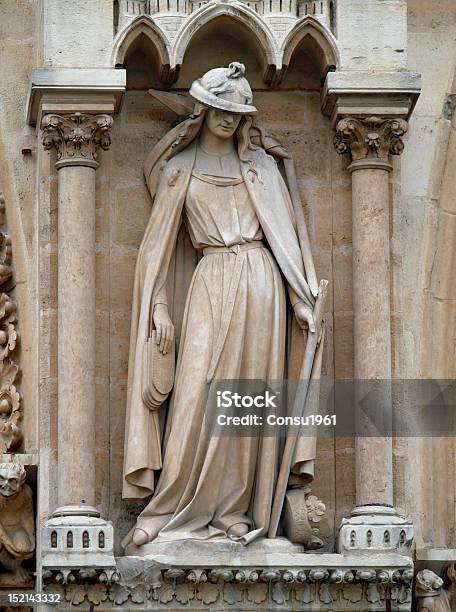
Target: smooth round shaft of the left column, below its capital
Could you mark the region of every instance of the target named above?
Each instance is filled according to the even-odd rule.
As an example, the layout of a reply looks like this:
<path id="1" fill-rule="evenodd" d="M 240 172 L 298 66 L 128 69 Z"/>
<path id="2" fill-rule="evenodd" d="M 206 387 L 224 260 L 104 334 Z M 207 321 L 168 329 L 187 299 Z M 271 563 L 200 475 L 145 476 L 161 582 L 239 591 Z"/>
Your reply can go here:
<path id="1" fill-rule="evenodd" d="M 59 177 L 59 505 L 95 503 L 95 169 Z"/>

